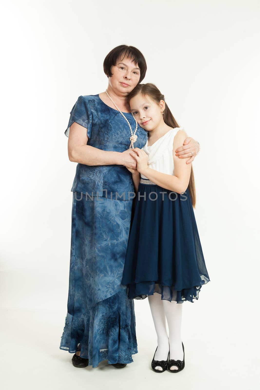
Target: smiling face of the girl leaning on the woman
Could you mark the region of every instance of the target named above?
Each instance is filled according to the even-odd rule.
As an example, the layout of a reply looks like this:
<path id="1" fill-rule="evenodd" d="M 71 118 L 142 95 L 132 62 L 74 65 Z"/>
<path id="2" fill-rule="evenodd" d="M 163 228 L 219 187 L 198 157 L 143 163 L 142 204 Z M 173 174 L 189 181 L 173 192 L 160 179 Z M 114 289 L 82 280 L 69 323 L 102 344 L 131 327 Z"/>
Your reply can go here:
<path id="1" fill-rule="evenodd" d="M 141 128 L 150 131 L 164 122 L 162 114 L 165 108 L 164 100 L 161 100 L 158 105 L 150 96 L 139 93 L 130 99 L 129 104 Z"/>

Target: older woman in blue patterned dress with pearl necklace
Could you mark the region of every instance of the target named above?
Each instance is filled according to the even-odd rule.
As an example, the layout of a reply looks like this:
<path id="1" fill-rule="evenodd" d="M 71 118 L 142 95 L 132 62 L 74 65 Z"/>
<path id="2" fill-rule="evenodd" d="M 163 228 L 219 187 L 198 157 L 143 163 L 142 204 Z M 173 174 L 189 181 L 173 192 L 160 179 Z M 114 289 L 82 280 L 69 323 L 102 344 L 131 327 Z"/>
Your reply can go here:
<path id="1" fill-rule="evenodd" d="M 129 152 L 147 132 L 131 113 L 127 95 L 145 77 L 146 62 L 133 46 L 120 45 L 104 59 L 105 92 L 80 96 L 65 135 L 69 160 L 78 163 L 73 191 L 67 316 L 60 349 L 74 353 L 75 367 L 102 360 L 125 367 L 137 353 L 134 303 L 121 285 L 131 222 L 136 169 Z M 194 160 L 198 142 L 177 150 Z"/>

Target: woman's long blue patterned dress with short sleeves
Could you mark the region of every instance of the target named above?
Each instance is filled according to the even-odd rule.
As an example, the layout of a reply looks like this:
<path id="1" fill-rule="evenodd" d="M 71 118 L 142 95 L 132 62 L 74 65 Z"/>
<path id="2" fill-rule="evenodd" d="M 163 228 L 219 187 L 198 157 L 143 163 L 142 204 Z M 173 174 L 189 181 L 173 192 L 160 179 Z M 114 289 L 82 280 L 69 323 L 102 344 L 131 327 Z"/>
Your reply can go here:
<path id="1" fill-rule="evenodd" d="M 71 110 L 65 135 L 77 122 L 87 129 L 88 145 L 123 152 L 130 145 L 129 126 L 99 95 L 80 96 Z M 124 113 L 135 129 L 131 113 Z M 134 147 L 146 144 L 140 128 Z M 131 363 L 137 353 L 134 303 L 120 282 L 129 237 L 134 185 L 123 165 L 78 163 L 73 192 L 67 316 L 60 349 L 80 350 L 89 365 Z"/>

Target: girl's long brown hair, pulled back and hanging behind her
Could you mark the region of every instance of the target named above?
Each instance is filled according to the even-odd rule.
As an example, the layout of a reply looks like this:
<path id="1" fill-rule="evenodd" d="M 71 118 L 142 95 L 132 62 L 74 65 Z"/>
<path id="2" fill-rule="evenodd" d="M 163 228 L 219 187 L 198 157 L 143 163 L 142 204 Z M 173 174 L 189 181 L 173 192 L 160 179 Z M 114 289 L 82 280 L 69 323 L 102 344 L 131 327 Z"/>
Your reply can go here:
<path id="1" fill-rule="evenodd" d="M 161 94 L 161 92 L 156 87 L 156 85 L 154 85 L 152 83 L 136 85 L 136 87 L 134 87 L 134 89 L 127 96 L 128 100 L 130 101 L 130 99 L 132 97 L 136 96 L 139 93 L 143 96 L 145 96 L 145 95 L 150 96 L 154 101 L 156 101 L 157 104 L 159 104 L 161 100 L 163 100 L 165 103 L 164 95 Z M 170 126 L 172 128 L 180 127 L 179 124 L 177 123 L 177 121 L 175 120 L 175 118 L 173 117 L 173 115 L 170 111 L 170 108 L 167 106 L 166 103 L 165 103 L 165 109 L 164 109 L 164 113 L 163 113 L 163 119 L 164 119 L 164 123 L 166 123 L 167 126 Z M 195 181 L 194 181 L 194 173 L 193 173 L 192 165 L 191 165 L 191 176 L 189 177 L 188 190 L 189 190 L 189 193 L 191 196 L 192 207 L 195 208 L 196 190 L 195 190 Z"/>

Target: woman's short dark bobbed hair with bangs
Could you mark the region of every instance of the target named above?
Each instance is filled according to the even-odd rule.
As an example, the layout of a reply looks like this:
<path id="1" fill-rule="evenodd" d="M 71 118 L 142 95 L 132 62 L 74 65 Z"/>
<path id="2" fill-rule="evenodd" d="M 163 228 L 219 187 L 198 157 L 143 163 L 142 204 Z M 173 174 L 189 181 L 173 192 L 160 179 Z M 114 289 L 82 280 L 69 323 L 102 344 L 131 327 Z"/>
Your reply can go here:
<path id="1" fill-rule="evenodd" d="M 145 78 L 147 65 L 145 57 L 143 56 L 141 51 L 134 46 L 120 45 L 113 48 L 108 53 L 103 63 L 104 73 L 106 74 L 106 76 L 112 76 L 111 67 L 117 64 L 117 61 L 122 57 L 122 55 L 124 55 L 123 58 L 127 57 L 131 61 L 133 61 L 135 65 L 138 64 L 138 66 L 140 67 L 140 80 L 138 81 L 138 84 L 141 83 L 141 81 Z"/>

